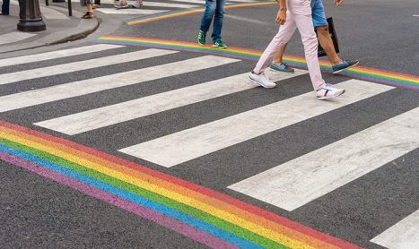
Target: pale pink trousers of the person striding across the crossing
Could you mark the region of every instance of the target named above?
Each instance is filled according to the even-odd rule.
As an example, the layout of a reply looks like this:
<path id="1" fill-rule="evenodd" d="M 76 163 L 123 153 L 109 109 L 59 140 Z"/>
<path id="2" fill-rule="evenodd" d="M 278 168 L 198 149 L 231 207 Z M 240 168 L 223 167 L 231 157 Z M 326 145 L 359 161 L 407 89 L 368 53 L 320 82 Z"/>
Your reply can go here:
<path id="1" fill-rule="evenodd" d="M 278 33 L 266 47 L 258 64 L 253 72 L 262 73 L 272 62 L 272 58 L 279 47 L 283 47 L 291 39 L 295 29 L 298 28 L 301 34 L 304 53 L 309 68 L 311 83 L 314 90 L 319 90 L 325 84 L 321 77 L 320 64 L 318 58 L 318 39 L 314 32 L 313 22 L 311 21 L 310 0 L 287 0 L 287 18 L 279 28 Z"/>

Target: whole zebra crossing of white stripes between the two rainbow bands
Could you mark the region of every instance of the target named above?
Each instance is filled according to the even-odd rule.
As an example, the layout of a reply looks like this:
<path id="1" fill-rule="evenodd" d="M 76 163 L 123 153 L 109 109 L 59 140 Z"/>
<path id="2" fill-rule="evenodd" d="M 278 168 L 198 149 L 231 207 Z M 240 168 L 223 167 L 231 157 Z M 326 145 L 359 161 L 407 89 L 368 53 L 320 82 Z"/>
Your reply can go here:
<path id="1" fill-rule="evenodd" d="M 92 51 L 109 51 L 112 55 L 86 58 Z M 135 66 L 127 67 L 128 64 Z M 136 64 L 139 68 L 135 68 Z M 90 76 L 93 69 L 107 72 L 111 67 L 118 67 L 119 72 Z M 228 75 L 218 74 L 220 67 L 231 71 Z M 17 123 L 22 122 L 22 115 L 27 116 L 23 119 L 32 127 L 62 133 L 74 141 L 92 137 L 91 140 L 112 142 L 115 137 L 130 137 L 128 144 L 115 142 L 116 150 L 111 150 L 173 174 L 182 169 L 186 172 L 183 174 L 196 174 L 194 177 L 200 184 L 214 187 L 212 183 L 216 182 L 226 192 L 291 214 L 325 198 L 333 202 L 327 199 L 328 194 L 339 193 L 344 186 L 362 181 L 371 172 L 408 154 L 417 155 L 418 103 L 397 107 L 389 115 L 369 113 L 369 116 L 376 115 L 370 123 L 358 130 L 346 125 L 342 130 L 347 131 L 328 138 L 330 141 L 309 139 L 324 127 L 314 124 L 332 122 L 339 127 L 336 117 L 351 116 L 354 109 L 363 107 L 364 103 L 368 106 L 369 101 L 384 103 L 398 98 L 403 90 L 343 78 L 337 83 L 347 91 L 342 98 L 319 101 L 309 88 L 303 87 L 310 87 L 308 72 L 296 70 L 296 73 L 269 72 L 279 89 L 283 84 L 283 91 L 292 85 L 296 89 L 273 97 L 277 91 L 263 90 L 247 82 L 245 68 L 249 70 L 246 62 L 223 56 L 157 48 L 135 50 L 105 44 L 7 58 L 0 60 L 0 92 L 22 82 L 35 89 L 0 94 L 0 116 Z M 83 74 L 85 79 L 72 81 L 73 74 Z M 44 79 L 52 79 L 52 85 L 38 87 Z M 136 87 L 144 92 L 139 98 L 129 95 L 131 90 L 140 91 L 134 90 Z M 111 93 L 107 96 L 117 97 L 122 89 L 131 96 L 129 99 L 117 99 L 111 104 L 99 102 L 94 107 L 71 107 L 58 111 L 58 115 L 52 111 L 46 116 L 32 115 L 39 113 L 38 108 L 64 108 L 60 105 L 63 101 L 80 104 L 83 99 L 92 99 L 94 102 L 105 92 Z M 262 97 L 266 98 L 264 102 L 252 103 Z M 232 100 L 236 103 L 233 110 L 220 105 Z M 201 106 L 202 113 L 197 110 L 199 105 L 206 105 Z M 211 112 L 218 113 L 211 116 Z M 13 114 L 21 116 L 13 120 Z M 168 116 L 179 119 L 165 119 Z M 178 123 L 171 124 L 175 121 Z M 132 133 L 124 130 L 127 124 L 140 124 L 142 129 Z M 107 132 L 101 133 L 104 130 Z M 143 134 L 147 131 L 151 135 Z M 302 138 L 286 137 L 294 133 L 301 133 Z M 280 139 L 287 143 L 275 142 Z M 299 139 L 300 143 L 293 144 L 293 139 Z M 301 149 L 284 155 L 281 150 L 285 147 Z M 254 163 L 258 163 L 257 167 L 249 167 Z M 223 170 L 214 170 L 220 168 Z M 412 177 L 419 180 L 418 176 Z M 388 248 L 418 247 L 418 209 L 416 206 L 414 212 L 398 217 L 397 222 L 380 227 L 368 240 Z"/>

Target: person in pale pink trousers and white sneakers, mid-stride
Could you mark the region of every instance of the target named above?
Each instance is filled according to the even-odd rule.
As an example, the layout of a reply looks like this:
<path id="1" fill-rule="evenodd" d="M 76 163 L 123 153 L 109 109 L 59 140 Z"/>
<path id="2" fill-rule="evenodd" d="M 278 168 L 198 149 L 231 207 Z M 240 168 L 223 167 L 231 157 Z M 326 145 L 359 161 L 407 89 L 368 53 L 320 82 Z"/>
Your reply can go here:
<path id="1" fill-rule="evenodd" d="M 335 4 L 341 2 L 341 0 L 334 1 Z M 262 56 L 260 56 L 256 67 L 249 74 L 249 81 L 255 82 L 264 88 L 274 88 L 276 86 L 274 82 L 270 82 L 264 72 L 271 63 L 276 51 L 291 39 L 295 29 L 298 28 L 304 46 L 310 80 L 316 91 L 317 99 L 333 99 L 342 95 L 345 90 L 337 89 L 331 84 L 327 84 L 321 76 L 318 58 L 319 44 L 311 20 L 310 0 L 278 0 L 278 2 L 279 10 L 275 21 L 281 27 L 274 39 L 266 47 Z"/>

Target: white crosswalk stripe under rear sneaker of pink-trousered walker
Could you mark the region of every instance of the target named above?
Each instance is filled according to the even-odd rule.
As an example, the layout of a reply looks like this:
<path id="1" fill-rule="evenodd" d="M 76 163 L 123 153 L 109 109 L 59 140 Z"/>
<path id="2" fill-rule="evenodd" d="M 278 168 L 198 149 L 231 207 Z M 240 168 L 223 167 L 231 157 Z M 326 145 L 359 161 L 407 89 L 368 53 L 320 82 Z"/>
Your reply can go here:
<path id="1" fill-rule="evenodd" d="M 296 70 L 295 73 L 270 73 L 269 78 L 274 82 L 278 82 L 305 73 L 307 73 L 305 70 Z M 255 84 L 248 83 L 248 75 L 249 73 L 242 73 L 179 90 L 170 90 L 141 99 L 130 100 L 109 107 L 100 107 L 74 115 L 57 117 L 35 125 L 69 135 L 84 133 L 172 108 L 258 87 Z"/>

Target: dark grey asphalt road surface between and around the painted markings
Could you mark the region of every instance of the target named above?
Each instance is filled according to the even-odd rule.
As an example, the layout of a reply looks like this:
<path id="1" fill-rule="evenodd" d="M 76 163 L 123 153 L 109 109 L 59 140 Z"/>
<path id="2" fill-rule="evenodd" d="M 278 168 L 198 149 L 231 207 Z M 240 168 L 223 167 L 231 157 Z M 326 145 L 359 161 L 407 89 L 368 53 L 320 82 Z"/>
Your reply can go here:
<path id="1" fill-rule="evenodd" d="M 419 17 L 414 16 L 419 14 L 419 4 L 416 0 L 354 0 L 339 7 L 333 6 L 332 1 L 325 1 L 325 6 L 327 15 L 333 16 L 336 24 L 342 51 L 340 56 L 358 59 L 363 66 L 419 75 Z M 274 23 L 276 11 L 275 5 L 228 10 L 224 20 L 223 42 L 234 47 L 263 50 L 278 29 Z M 200 14 L 194 14 L 136 26 L 124 24 L 113 34 L 195 41 L 200 17 Z M 96 34 L 58 47 L 90 45 L 97 37 Z M 57 47 L 44 47 L 10 56 L 55 49 Z M 139 49 L 144 47 L 122 47 L 96 54 L 19 64 L 0 68 L 0 74 Z M 298 34 L 290 41 L 286 54 L 303 55 Z M 199 56 L 203 55 L 181 52 L 0 85 L 0 96 Z M 170 168 L 135 159 L 117 150 L 309 92 L 312 88 L 309 76 L 301 75 L 278 82 L 273 90 L 244 90 L 73 136 L 32 125 L 57 116 L 246 73 L 254 64 L 253 61 L 240 61 L 114 90 L 102 90 L 4 112 L 0 114 L 0 119 L 64 137 L 205 185 L 356 245 L 381 248 L 372 244 L 371 238 L 419 209 L 419 149 L 293 211 L 282 210 L 236 193 L 227 189 L 227 186 L 418 107 L 419 92 L 416 90 L 389 90 Z M 323 73 L 323 76 L 331 83 L 349 79 L 329 73 Z M 4 248 L 203 247 L 149 220 L 4 162 L 0 162 L 0 209 L 0 241 Z"/>

